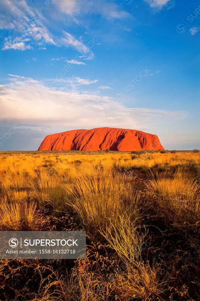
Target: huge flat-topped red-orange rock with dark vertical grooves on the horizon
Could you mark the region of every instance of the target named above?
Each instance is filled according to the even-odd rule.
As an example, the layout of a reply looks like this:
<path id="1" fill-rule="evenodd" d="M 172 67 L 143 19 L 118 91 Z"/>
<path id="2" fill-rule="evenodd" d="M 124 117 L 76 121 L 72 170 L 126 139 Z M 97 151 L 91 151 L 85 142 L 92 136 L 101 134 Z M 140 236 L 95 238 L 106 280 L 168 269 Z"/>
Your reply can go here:
<path id="1" fill-rule="evenodd" d="M 48 135 L 38 151 L 135 151 L 165 150 L 156 135 L 131 129 L 79 129 Z"/>

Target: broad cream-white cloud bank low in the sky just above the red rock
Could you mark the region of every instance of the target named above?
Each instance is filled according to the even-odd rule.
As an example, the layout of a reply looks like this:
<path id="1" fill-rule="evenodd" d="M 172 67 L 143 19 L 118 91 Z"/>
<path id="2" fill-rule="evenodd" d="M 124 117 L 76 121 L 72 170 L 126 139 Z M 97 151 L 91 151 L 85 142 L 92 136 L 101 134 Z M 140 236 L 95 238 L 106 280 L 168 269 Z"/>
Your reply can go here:
<path id="1" fill-rule="evenodd" d="M 76 80 L 83 84 L 83 80 Z M 10 82 L 3 87 L 2 92 L 1 121 L 23 125 L 74 128 L 111 126 L 150 131 L 153 125 L 171 125 L 171 120 L 185 116 L 184 112 L 127 108 L 122 103 L 117 103 L 116 99 L 97 95 L 95 92 L 65 92 L 62 87 L 51 87 L 49 90 L 44 82 L 23 76 L 11 75 Z M 106 113 L 105 119 L 101 119 L 99 111 Z"/>

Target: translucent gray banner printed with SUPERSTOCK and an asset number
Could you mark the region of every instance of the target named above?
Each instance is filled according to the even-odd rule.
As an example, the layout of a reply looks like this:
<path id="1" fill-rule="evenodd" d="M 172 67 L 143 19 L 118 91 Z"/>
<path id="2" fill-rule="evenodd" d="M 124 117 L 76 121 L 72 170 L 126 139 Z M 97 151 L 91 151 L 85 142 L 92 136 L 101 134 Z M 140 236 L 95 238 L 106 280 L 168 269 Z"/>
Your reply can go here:
<path id="1" fill-rule="evenodd" d="M 85 259 L 85 231 L 0 231 L 0 259 Z"/>

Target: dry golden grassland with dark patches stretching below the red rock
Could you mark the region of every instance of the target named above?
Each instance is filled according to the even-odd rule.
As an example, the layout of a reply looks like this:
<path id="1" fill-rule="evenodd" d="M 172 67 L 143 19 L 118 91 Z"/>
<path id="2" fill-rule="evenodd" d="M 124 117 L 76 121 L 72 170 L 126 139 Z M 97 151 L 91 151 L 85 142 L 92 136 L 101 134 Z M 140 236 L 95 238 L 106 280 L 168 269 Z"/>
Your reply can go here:
<path id="1" fill-rule="evenodd" d="M 0 230 L 85 230 L 86 259 L 0 260 L 1 300 L 199 300 L 199 151 L 1 152 Z"/>

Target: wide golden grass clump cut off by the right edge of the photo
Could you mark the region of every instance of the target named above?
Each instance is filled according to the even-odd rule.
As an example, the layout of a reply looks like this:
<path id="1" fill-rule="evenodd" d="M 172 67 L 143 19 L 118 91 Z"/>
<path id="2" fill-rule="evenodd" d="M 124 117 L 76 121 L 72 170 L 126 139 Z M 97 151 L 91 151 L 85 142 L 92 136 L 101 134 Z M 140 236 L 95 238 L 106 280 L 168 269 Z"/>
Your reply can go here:
<path id="1" fill-rule="evenodd" d="M 165 173 L 152 177 L 146 183 L 147 192 L 159 206 L 171 214 L 177 222 L 198 222 L 200 218 L 200 194 L 198 182 L 186 178 L 178 170 L 172 178 Z"/>

